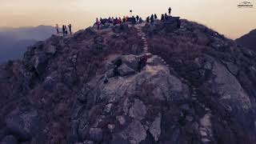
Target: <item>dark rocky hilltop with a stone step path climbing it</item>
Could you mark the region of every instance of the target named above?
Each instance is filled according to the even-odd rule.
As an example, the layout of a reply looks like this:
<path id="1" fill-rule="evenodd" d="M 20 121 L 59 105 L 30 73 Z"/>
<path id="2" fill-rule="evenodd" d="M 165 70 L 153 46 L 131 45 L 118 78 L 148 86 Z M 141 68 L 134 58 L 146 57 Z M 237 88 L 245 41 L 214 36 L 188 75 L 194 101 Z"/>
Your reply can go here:
<path id="1" fill-rule="evenodd" d="M 255 52 L 196 22 L 89 27 L 0 65 L 0 141 L 254 144 L 255 86 Z"/>

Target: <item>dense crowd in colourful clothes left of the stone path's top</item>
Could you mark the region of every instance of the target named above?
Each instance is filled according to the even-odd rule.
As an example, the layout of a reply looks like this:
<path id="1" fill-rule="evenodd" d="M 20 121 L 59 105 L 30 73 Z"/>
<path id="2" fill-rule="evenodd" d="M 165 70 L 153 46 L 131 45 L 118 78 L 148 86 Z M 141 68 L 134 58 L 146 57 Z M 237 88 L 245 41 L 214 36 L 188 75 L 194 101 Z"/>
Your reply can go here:
<path id="1" fill-rule="evenodd" d="M 94 26 L 97 26 L 97 29 L 100 30 L 101 26 L 106 26 L 106 23 L 113 24 L 114 26 L 117 24 L 125 23 L 125 22 L 131 22 L 132 26 L 134 26 L 136 23 L 141 23 L 142 18 L 138 15 L 136 17 L 132 16 L 129 18 L 128 16 L 121 17 L 112 17 L 112 18 L 96 18 L 96 22 L 94 23 Z"/>

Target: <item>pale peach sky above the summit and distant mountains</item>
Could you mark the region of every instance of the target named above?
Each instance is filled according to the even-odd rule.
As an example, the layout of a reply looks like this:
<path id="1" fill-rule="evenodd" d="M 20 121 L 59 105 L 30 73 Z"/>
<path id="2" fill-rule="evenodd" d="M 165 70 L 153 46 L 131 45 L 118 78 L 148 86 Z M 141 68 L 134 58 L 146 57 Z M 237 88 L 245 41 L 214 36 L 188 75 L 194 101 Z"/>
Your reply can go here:
<path id="1" fill-rule="evenodd" d="M 134 15 L 143 18 L 165 13 L 170 6 L 174 16 L 199 22 L 238 38 L 256 29 L 254 8 L 238 8 L 244 0 L 0 0 L 0 26 L 73 24 L 76 30 L 92 25 L 96 17 Z M 158 16 L 159 17 L 159 16 Z"/>

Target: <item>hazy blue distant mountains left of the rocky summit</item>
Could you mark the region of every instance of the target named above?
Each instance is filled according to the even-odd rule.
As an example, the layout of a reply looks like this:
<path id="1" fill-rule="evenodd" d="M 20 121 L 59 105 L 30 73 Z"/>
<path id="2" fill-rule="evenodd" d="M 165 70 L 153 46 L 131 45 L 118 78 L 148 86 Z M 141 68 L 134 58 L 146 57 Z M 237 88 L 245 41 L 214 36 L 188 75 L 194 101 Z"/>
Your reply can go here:
<path id="1" fill-rule="evenodd" d="M 54 34 L 53 26 L 0 28 L 0 62 L 22 58 L 26 47 Z"/>

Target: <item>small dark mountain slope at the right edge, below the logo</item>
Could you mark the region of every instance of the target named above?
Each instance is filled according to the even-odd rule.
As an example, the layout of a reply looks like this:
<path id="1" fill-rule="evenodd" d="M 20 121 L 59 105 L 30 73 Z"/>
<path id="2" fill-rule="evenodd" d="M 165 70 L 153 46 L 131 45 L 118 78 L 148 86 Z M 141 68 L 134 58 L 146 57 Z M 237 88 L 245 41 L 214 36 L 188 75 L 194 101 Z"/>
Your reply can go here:
<path id="1" fill-rule="evenodd" d="M 238 45 L 250 48 L 250 50 L 256 50 L 256 29 L 251 30 L 249 34 L 245 34 L 235 41 L 238 43 Z"/>

